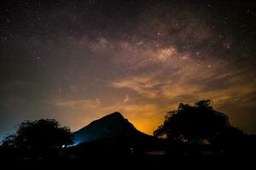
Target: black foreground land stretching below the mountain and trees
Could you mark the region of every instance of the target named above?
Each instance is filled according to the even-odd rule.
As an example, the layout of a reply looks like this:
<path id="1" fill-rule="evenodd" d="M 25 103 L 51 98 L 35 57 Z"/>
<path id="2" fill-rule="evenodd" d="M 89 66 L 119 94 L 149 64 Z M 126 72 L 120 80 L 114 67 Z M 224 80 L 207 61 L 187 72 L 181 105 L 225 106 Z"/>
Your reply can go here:
<path id="1" fill-rule="evenodd" d="M 254 141 L 254 140 L 250 140 Z M 1 165 L 38 169 L 169 169 L 171 167 L 255 167 L 252 143 L 228 144 L 224 149 L 211 145 L 169 144 L 166 140 L 109 139 L 64 147 L 58 150 L 0 150 Z M 172 147 L 170 147 L 172 146 Z M 81 168 L 83 167 L 83 168 Z"/>

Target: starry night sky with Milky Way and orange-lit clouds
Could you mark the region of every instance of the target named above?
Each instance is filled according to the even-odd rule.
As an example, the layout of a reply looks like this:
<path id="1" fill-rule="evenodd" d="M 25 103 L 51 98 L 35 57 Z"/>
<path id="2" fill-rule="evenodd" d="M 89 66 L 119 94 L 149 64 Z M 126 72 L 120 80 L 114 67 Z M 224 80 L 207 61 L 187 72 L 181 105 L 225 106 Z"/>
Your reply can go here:
<path id="1" fill-rule="evenodd" d="M 256 133 L 256 2 L 1 1 L 0 136 L 113 111 L 152 134 L 181 102 Z"/>

